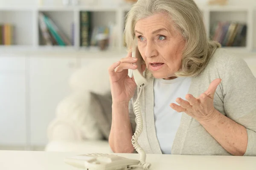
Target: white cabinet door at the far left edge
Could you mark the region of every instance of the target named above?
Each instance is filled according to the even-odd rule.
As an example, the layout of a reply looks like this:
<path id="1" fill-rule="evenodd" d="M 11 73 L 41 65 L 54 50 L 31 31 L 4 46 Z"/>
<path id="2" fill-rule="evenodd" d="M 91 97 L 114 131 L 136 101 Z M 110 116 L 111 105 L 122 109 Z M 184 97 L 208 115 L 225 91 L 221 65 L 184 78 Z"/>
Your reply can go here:
<path id="1" fill-rule="evenodd" d="M 0 145 L 26 146 L 25 58 L 0 57 Z"/>

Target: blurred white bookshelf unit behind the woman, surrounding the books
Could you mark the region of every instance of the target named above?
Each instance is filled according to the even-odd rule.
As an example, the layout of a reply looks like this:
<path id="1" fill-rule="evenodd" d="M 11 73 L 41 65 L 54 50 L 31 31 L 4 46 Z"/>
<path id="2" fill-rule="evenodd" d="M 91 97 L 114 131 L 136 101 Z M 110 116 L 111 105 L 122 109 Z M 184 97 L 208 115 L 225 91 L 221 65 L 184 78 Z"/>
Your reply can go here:
<path id="1" fill-rule="evenodd" d="M 243 47 L 225 47 L 234 51 L 253 52 L 256 44 L 256 32 L 253 31 L 254 9 L 251 6 L 199 6 L 205 19 L 207 33 L 211 36 L 214 23 L 218 21 L 236 21 L 247 25 L 246 45 Z M 92 26 L 107 26 L 109 22 L 116 25 L 115 46 L 109 50 L 124 51 L 123 30 L 125 14 L 131 6 L 1 6 L 0 23 L 11 23 L 15 26 L 14 44 L 11 46 L 0 46 L 0 51 L 90 51 L 97 48 L 84 48 L 80 46 L 80 12 L 92 12 Z M 43 12 L 51 18 L 58 28 L 72 42 L 71 46 L 45 46 L 42 42 L 39 29 L 39 13 Z M 26 18 L 26 19 L 24 19 Z M 254 38 L 253 38 L 254 37 Z"/>

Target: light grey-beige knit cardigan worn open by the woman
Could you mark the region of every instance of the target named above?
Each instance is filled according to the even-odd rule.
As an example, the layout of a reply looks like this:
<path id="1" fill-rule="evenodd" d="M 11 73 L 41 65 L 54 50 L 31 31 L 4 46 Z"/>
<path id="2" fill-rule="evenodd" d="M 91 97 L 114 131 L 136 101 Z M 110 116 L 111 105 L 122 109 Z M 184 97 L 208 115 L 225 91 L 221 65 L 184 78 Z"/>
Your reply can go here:
<path id="1" fill-rule="evenodd" d="M 192 78 L 188 93 L 198 97 L 215 78 L 222 79 L 214 95 L 215 109 L 247 129 L 248 144 L 244 156 L 256 156 L 256 78 L 243 59 L 225 49 L 217 49 L 203 72 Z M 138 142 L 146 153 L 161 154 L 154 124 L 154 78 L 147 79 L 148 85 L 140 96 L 143 132 Z M 139 89 L 129 105 L 133 131 L 136 128 L 133 104 L 138 92 Z M 198 121 L 186 113 L 180 114 L 182 118 L 172 146 L 172 154 L 231 155 Z"/>

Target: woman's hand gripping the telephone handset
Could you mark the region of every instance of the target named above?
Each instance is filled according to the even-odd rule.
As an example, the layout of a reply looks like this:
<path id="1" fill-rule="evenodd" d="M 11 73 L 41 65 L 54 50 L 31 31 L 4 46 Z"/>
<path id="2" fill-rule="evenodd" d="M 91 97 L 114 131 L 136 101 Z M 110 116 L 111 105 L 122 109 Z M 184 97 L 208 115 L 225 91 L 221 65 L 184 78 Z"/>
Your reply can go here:
<path id="1" fill-rule="evenodd" d="M 137 85 L 134 78 L 128 76 L 128 69 L 137 69 L 136 62 L 137 58 L 132 58 L 130 52 L 126 58 L 122 58 L 109 67 L 113 104 L 128 104 L 134 95 Z M 145 70 L 145 65 L 142 65 L 142 70 Z"/>

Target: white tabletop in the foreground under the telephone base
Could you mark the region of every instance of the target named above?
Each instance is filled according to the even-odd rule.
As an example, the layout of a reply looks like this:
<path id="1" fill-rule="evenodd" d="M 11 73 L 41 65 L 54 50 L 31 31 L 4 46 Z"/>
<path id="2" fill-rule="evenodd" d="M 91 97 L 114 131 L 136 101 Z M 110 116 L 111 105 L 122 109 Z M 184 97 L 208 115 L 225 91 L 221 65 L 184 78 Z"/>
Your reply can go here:
<path id="1" fill-rule="evenodd" d="M 84 153 L 0 151 L 0 170 L 79 170 L 64 163 L 69 156 Z M 117 154 L 138 159 L 137 154 Z M 147 156 L 151 170 L 256 170 L 256 157 L 241 156 Z"/>

